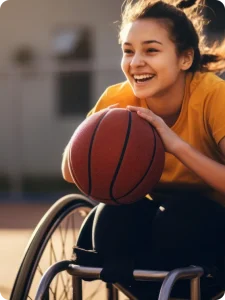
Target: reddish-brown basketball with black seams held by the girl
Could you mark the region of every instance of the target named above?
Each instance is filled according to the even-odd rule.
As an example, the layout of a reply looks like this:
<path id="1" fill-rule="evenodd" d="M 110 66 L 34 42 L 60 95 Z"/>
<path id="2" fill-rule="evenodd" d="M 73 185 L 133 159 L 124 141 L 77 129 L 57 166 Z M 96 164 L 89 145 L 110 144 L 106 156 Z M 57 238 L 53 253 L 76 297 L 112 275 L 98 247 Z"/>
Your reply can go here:
<path id="1" fill-rule="evenodd" d="M 159 181 L 165 161 L 162 141 L 147 121 L 123 108 L 101 110 L 75 130 L 69 169 L 90 199 L 129 204 Z"/>

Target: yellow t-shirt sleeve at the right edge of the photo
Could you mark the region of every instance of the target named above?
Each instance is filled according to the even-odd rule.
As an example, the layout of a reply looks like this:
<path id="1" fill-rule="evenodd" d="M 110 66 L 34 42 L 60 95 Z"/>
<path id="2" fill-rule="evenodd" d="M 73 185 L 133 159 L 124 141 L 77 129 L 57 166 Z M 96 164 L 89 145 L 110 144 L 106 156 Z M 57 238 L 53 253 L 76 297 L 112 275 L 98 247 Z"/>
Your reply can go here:
<path id="1" fill-rule="evenodd" d="M 206 126 L 217 144 L 225 137 L 225 81 L 216 85 L 205 104 Z"/>

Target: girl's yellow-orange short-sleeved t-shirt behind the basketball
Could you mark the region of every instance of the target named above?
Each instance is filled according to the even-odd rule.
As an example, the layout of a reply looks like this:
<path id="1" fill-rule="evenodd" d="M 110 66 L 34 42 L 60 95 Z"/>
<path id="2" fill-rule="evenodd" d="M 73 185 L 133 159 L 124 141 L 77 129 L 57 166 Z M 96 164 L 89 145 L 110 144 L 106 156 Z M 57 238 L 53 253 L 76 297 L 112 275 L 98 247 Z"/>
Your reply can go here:
<path id="1" fill-rule="evenodd" d="M 106 89 L 88 116 L 114 103 L 147 108 L 145 99 L 135 97 L 129 83 Z M 225 164 L 218 143 L 225 137 L 225 81 L 213 73 L 188 73 L 180 115 L 171 129 L 184 141 L 213 160 Z M 225 184 L 225 183 L 224 183 Z M 192 186 L 206 189 L 225 204 L 225 197 L 212 191 L 194 172 L 175 156 L 166 153 L 165 167 L 159 182 L 163 186 Z"/>

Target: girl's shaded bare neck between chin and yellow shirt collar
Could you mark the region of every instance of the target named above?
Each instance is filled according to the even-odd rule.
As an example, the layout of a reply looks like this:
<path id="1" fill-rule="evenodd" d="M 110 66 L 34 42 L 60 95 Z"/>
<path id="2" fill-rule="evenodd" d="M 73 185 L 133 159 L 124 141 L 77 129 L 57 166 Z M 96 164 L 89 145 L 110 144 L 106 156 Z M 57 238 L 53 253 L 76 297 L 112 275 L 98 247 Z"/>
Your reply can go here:
<path id="1" fill-rule="evenodd" d="M 186 74 L 182 74 L 169 90 L 146 99 L 148 108 L 163 118 L 169 126 L 172 126 L 179 116 L 185 93 L 185 79 Z"/>

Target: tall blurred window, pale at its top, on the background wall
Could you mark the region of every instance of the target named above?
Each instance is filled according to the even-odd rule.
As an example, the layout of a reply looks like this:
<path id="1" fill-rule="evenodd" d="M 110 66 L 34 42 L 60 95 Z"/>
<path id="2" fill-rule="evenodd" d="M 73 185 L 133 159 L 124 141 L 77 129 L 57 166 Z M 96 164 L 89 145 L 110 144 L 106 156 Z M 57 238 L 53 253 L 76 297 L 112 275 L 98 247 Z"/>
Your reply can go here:
<path id="1" fill-rule="evenodd" d="M 91 42 L 90 30 L 84 27 L 62 28 L 54 34 L 53 55 L 60 66 L 56 74 L 60 116 L 86 114 L 89 110 L 92 94 Z"/>

